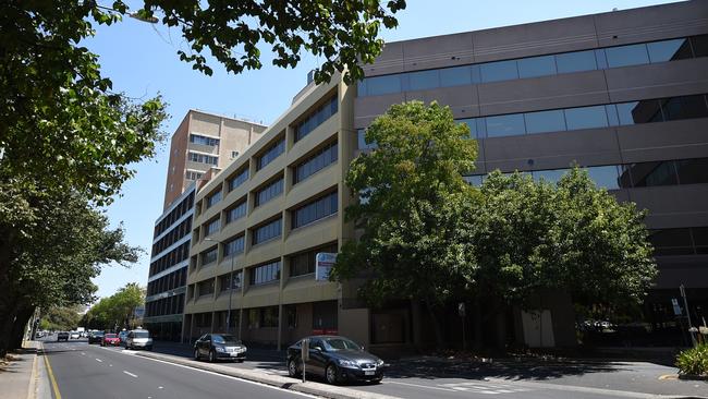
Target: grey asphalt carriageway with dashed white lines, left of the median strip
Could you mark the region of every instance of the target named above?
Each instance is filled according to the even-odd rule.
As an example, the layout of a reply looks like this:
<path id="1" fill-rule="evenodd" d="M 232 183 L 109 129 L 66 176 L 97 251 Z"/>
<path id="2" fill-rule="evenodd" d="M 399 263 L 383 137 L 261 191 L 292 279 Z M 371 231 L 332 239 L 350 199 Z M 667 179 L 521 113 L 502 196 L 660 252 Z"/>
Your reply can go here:
<path id="1" fill-rule="evenodd" d="M 45 340 L 62 398 L 312 398 L 239 378 L 89 346 L 84 340 Z"/>

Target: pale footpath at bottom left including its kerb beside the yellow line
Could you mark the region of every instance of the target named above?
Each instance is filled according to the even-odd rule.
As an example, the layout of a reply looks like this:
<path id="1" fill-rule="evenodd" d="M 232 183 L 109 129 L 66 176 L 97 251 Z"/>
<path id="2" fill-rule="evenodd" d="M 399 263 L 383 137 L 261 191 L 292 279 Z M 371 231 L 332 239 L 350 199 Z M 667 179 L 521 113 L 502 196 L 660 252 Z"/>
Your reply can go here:
<path id="1" fill-rule="evenodd" d="M 38 341 L 24 341 L 23 349 L 0 364 L 0 399 L 51 398 L 40 348 Z"/>

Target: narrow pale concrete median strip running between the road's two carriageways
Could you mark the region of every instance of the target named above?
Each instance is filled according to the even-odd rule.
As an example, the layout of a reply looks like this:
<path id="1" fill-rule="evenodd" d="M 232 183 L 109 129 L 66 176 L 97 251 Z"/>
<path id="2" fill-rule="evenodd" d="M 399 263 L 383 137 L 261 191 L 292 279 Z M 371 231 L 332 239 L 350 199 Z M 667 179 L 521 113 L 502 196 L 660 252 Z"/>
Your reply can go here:
<path id="1" fill-rule="evenodd" d="M 330 399 L 395 399 L 398 398 L 398 397 L 392 397 L 387 395 L 367 392 L 367 391 L 355 390 L 355 389 L 350 389 L 350 388 L 344 388 L 339 386 L 315 383 L 315 382 L 303 383 L 302 380 L 298 382 L 294 378 L 264 373 L 260 370 L 235 368 L 235 367 L 229 367 L 225 365 L 220 365 L 215 363 L 197 362 L 179 355 L 145 352 L 145 351 L 139 351 L 136 352 L 135 354 L 139 356 L 160 360 L 163 362 L 180 364 L 187 367 L 199 368 L 212 373 L 229 375 L 232 377 L 237 377 L 237 378 L 243 378 L 243 379 L 247 379 L 260 384 L 276 386 L 282 389 L 290 389 L 297 392 L 315 395 L 322 398 L 330 398 Z"/>

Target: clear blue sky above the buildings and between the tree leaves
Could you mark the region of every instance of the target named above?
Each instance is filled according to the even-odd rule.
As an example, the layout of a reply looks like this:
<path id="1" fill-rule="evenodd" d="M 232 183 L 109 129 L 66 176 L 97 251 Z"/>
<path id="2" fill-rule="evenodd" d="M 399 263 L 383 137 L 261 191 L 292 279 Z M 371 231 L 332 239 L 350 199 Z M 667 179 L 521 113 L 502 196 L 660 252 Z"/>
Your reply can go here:
<path id="1" fill-rule="evenodd" d="M 398 41 L 667 2 L 673 1 L 408 0 L 407 8 L 396 13 L 399 27 L 382 32 L 381 37 L 386 41 Z M 138 2 L 127 3 L 135 9 Z M 297 68 L 280 69 L 271 65 L 269 49 L 261 48 L 263 69 L 233 75 L 212 61 L 213 75 L 206 76 L 179 60 L 176 51 L 186 50 L 188 46 L 178 28 L 133 19 L 97 27 L 96 36 L 81 45 L 99 56 L 102 73 L 112 80 L 114 92 L 138 99 L 148 99 L 158 93 L 163 96 L 171 114 L 163 131 L 170 136 L 190 109 L 268 124 L 288 109 L 292 97 L 306 84 L 307 71 L 321 61 L 304 56 Z M 111 295 L 127 282 L 147 285 L 152 229 L 162 213 L 168 146 L 166 142 L 155 158 L 134 165 L 135 177 L 123 185 L 122 195 L 106 209 L 111 227 L 122 223 L 126 241 L 145 249 L 146 254 L 130 268 L 105 267 L 94 279 L 98 297 Z"/>

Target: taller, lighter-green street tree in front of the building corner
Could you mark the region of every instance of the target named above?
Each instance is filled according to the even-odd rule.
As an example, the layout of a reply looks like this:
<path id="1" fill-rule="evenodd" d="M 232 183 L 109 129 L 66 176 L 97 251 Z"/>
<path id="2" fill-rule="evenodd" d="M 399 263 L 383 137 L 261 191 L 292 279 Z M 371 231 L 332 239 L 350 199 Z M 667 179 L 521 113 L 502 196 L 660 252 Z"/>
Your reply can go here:
<path id="1" fill-rule="evenodd" d="M 476 266 L 465 238 L 476 189 L 462 178 L 477 156 L 469 130 L 449 107 L 412 101 L 392 106 L 366 130 L 377 148 L 361 154 L 345 178 L 359 202 L 345 209 L 361 232 L 344 243 L 332 278 L 367 276 L 362 298 L 419 301 L 442 344 L 440 307 L 460 295 Z"/>

